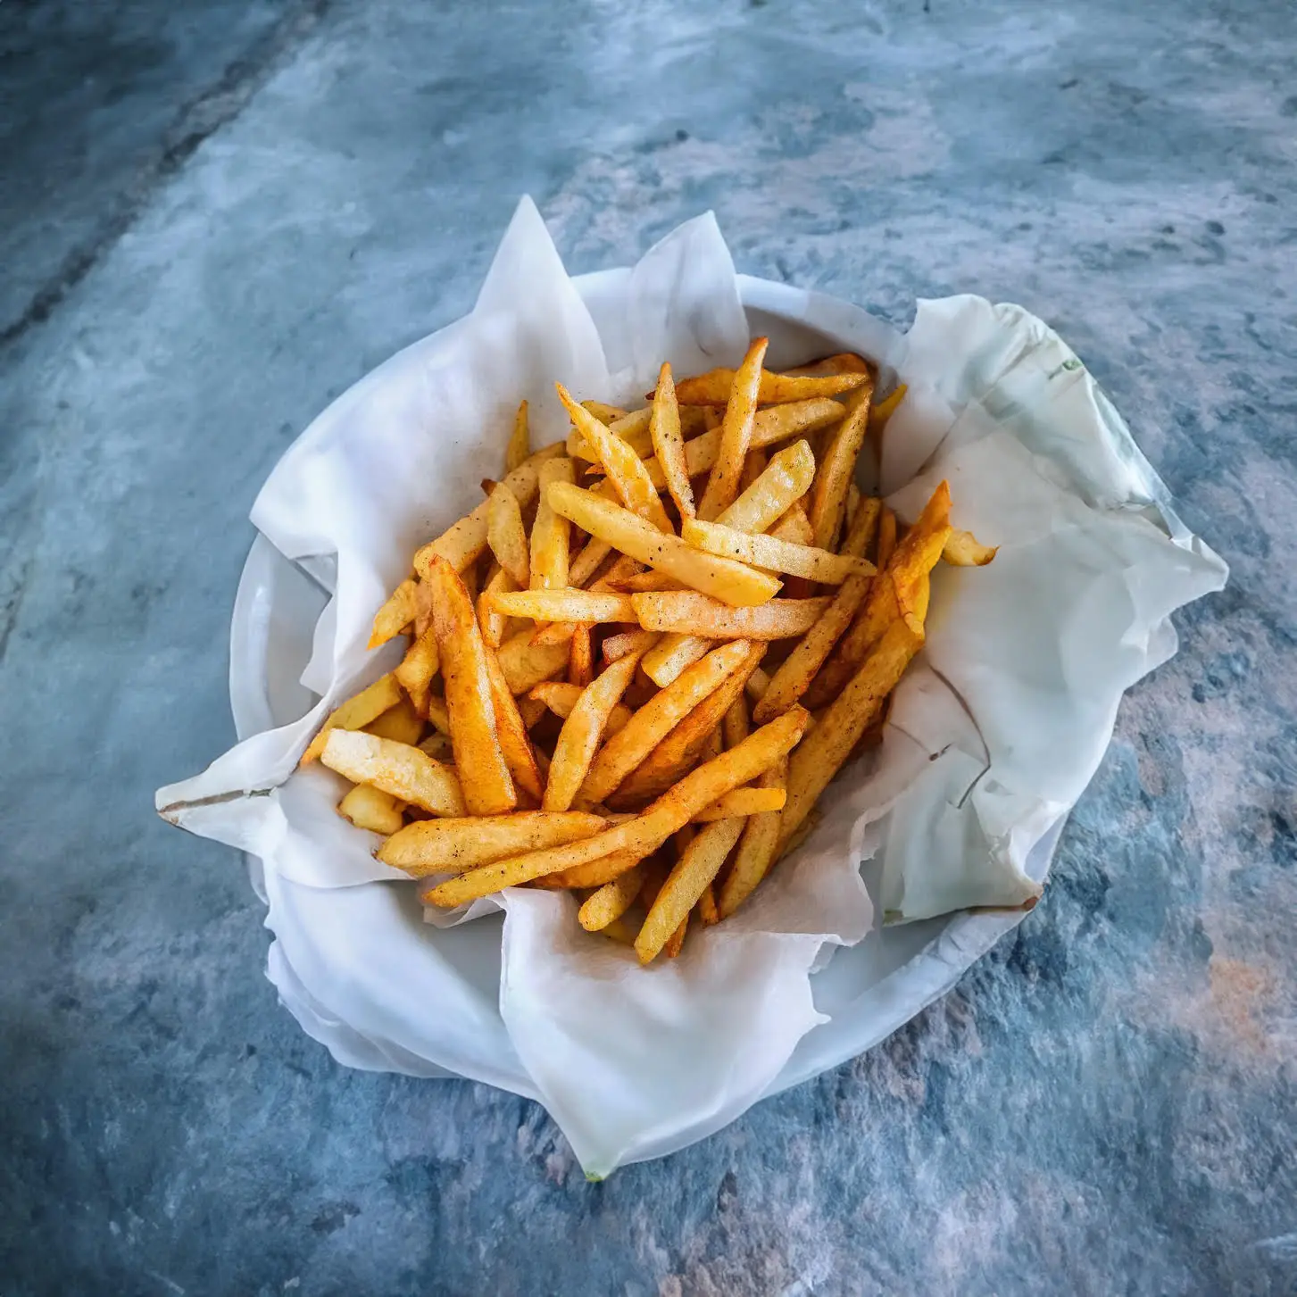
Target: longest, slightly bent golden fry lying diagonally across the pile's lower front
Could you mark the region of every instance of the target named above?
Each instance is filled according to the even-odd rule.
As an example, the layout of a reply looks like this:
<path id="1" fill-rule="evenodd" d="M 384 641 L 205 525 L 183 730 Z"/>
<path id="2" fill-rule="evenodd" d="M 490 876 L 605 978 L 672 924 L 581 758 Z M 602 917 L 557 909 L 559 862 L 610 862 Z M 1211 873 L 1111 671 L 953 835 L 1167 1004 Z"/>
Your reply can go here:
<path id="1" fill-rule="evenodd" d="M 637 859 L 651 855 L 677 829 L 689 824 L 704 805 L 722 798 L 730 789 L 751 783 L 763 770 L 791 751 L 805 732 L 807 716 L 802 708 L 785 712 L 778 720 L 756 730 L 738 747 L 722 752 L 715 760 L 686 774 L 642 815 L 625 824 L 584 842 L 527 852 L 472 869 L 458 878 L 447 878 L 432 888 L 424 900 L 449 909 L 479 896 L 489 896 L 503 887 L 515 887 L 559 870 L 575 872 L 576 866 L 588 865 L 613 852 L 624 853 L 623 860 L 629 869 Z M 634 856 L 636 852 L 638 857 Z"/>

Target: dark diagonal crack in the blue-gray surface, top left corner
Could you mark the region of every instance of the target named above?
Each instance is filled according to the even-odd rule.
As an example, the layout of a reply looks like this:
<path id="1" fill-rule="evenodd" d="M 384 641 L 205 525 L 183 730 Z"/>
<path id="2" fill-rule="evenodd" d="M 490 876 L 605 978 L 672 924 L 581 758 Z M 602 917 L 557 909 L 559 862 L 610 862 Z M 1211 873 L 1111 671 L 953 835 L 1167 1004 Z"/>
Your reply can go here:
<path id="1" fill-rule="evenodd" d="M 153 195 L 184 166 L 204 140 L 232 122 L 248 106 L 257 91 L 310 35 L 332 4 L 333 0 L 302 0 L 302 4 L 257 40 L 248 53 L 231 62 L 214 86 L 180 108 L 162 136 L 158 154 L 127 185 L 117 210 L 104 220 L 88 243 L 74 248 L 64 258 L 58 271 L 35 293 L 18 318 L 0 328 L 0 348 L 49 319 L 64 298 L 135 224 Z"/>

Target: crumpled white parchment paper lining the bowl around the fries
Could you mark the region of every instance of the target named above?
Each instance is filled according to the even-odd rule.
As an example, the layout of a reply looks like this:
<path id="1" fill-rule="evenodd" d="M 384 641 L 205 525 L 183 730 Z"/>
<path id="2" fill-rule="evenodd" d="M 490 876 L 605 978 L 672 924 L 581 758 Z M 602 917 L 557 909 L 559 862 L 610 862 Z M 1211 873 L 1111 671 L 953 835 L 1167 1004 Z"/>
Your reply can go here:
<path id="1" fill-rule="evenodd" d="M 394 665 L 397 646 L 364 648 L 374 610 L 498 473 L 521 398 L 542 445 L 567 429 L 555 380 L 629 399 L 663 359 L 686 374 L 741 358 L 747 323 L 711 215 L 611 287 L 591 315 L 524 200 L 472 314 L 393 357 L 294 442 L 253 521 L 288 558 L 336 555 L 302 677 L 322 698 L 157 799 L 173 822 L 261 859 L 271 978 L 340 1061 L 538 1097 L 597 1174 L 702 1137 L 774 1082 L 824 1021 L 809 974 L 877 918 L 863 856 L 883 853 L 894 922 L 1035 896 L 1027 852 L 1092 776 L 1122 691 L 1174 651 L 1170 611 L 1224 580 L 1056 335 L 981 298 L 921 302 L 891 358 L 910 393 L 882 486 L 909 519 L 948 479 L 956 524 L 1000 554 L 938 571 L 927 647 L 881 751 L 831 786 L 820 827 L 750 904 L 676 961 L 641 970 L 581 931 L 571 898 L 506 892 L 497 992 L 480 955 L 495 904 L 438 920 L 480 922 L 420 923 L 415 885 L 335 813 L 342 781 L 294 768 L 328 711 Z"/>

